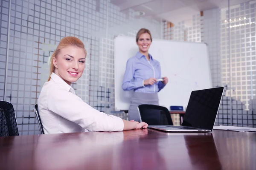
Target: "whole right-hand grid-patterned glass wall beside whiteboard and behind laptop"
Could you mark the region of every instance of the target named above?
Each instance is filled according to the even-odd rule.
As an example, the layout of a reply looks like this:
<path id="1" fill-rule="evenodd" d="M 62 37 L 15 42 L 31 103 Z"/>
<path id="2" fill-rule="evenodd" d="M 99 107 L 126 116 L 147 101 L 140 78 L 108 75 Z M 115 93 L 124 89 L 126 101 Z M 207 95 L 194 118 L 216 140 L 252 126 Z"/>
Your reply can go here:
<path id="1" fill-rule="evenodd" d="M 251 0 L 198 12 L 192 27 L 163 23 L 164 39 L 207 43 L 212 85 L 225 87 L 215 125 L 256 127 L 255 10 Z"/>

